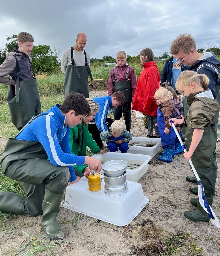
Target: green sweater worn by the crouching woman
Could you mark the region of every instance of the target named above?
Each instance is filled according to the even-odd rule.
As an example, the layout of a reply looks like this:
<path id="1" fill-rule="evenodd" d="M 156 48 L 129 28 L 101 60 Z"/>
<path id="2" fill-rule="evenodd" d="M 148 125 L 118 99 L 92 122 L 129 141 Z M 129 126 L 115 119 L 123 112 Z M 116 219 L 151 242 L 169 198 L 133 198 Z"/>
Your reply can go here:
<path id="1" fill-rule="evenodd" d="M 92 135 L 88 131 L 88 125 L 78 124 L 73 128 L 70 128 L 70 149 L 72 154 L 74 155 L 86 155 L 86 146 L 88 146 L 94 154 L 100 152 L 100 148 L 97 143 L 93 140 Z M 87 165 L 74 165 L 74 169 L 79 172 L 83 172 L 83 170 L 87 167 Z"/>

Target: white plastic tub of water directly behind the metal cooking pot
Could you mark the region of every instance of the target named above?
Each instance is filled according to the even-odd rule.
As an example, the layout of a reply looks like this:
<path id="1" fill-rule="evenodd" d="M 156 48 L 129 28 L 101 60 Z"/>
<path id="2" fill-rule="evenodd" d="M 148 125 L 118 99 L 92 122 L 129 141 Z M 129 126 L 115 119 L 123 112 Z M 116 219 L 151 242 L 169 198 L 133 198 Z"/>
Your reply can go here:
<path id="1" fill-rule="evenodd" d="M 100 160 L 102 163 L 105 163 L 110 160 L 124 160 L 127 162 L 128 167 L 126 170 L 127 180 L 138 182 L 138 180 L 147 172 L 148 170 L 148 162 L 151 157 L 149 155 L 140 155 L 140 154 L 128 154 L 128 153 L 105 153 L 105 154 L 96 154 L 92 156 Z M 137 165 L 133 166 L 133 169 L 129 169 L 129 165 Z M 140 165 L 140 166 L 138 166 Z M 103 171 L 100 172 L 103 174 Z"/>

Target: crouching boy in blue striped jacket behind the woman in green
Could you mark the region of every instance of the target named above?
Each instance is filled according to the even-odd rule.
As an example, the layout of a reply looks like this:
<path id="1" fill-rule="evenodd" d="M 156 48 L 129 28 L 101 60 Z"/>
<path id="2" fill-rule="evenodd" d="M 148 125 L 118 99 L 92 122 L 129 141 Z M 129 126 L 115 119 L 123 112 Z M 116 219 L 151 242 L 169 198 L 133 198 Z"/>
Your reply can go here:
<path id="1" fill-rule="evenodd" d="M 113 120 L 108 118 L 109 108 L 117 108 L 125 104 L 125 96 L 121 91 L 114 92 L 111 96 L 102 96 L 93 98 L 99 105 L 99 112 L 95 115 L 95 118 L 89 123 L 89 132 L 92 134 L 93 139 L 102 148 L 102 140 L 100 133 L 107 131 Z"/>

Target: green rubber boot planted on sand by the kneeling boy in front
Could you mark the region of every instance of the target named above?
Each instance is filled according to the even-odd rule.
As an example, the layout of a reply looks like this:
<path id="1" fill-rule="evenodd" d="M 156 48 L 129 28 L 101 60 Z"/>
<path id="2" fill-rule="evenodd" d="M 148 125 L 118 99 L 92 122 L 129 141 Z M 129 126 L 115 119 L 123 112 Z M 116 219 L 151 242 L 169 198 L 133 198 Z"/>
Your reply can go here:
<path id="1" fill-rule="evenodd" d="M 57 214 L 60 211 L 62 194 L 56 194 L 45 189 L 44 201 L 42 204 L 43 215 L 41 226 L 49 239 L 64 239 L 64 233 L 57 222 Z"/>

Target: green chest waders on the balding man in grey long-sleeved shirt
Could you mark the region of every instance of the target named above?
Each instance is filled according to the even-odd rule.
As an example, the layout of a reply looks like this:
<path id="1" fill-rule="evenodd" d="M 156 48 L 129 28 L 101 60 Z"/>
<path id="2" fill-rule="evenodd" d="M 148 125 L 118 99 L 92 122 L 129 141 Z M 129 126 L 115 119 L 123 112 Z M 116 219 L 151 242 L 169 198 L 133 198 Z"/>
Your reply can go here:
<path id="1" fill-rule="evenodd" d="M 89 82 L 88 78 L 93 80 L 92 74 L 87 62 L 85 50 L 85 66 L 76 66 L 73 58 L 73 47 L 71 47 L 71 65 L 66 67 L 65 80 L 63 84 L 64 96 L 68 96 L 70 92 L 79 92 L 86 98 L 89 98 Z"/>

